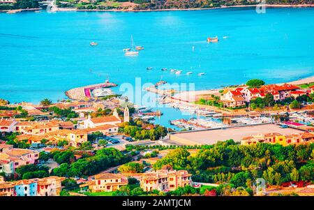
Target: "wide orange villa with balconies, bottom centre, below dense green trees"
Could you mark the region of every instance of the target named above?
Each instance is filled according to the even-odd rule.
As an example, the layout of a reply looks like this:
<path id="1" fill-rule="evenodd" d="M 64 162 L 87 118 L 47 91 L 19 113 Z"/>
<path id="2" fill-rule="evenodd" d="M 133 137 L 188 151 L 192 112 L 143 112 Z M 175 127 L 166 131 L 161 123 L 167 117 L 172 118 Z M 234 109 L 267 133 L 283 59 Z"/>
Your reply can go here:
<path id="1" fill-rule="evenodd" d="M 186 170 L 157 170 L 142 174 L 140 186 L 146 192 L 176 190 L 179 187 L 192 186 L 191 176 Z"/>

